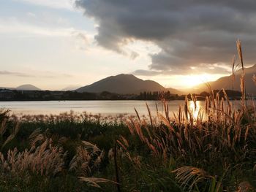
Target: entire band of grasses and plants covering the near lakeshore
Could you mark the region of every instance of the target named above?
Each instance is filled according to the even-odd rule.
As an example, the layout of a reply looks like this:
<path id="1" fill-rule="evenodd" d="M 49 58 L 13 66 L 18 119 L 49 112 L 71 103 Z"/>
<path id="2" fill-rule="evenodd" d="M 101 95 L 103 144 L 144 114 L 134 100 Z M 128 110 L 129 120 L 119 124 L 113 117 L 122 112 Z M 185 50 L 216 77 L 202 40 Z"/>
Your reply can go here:
<path id="1" fill-rule="evenodd" d="M 238 42 L 241 61 L 241 45 Z M 233 64 L 233 73 L 235 73 Z M 256 81 L 255 77 L 253 80 Z M 222 97 L 223 96 L 223 97 Z M 0 191 L 255 191 L 256 110 L 210 91 L 170 118 L 0 114 Z M 146 106 L 148 107 L 148 106 Z"/>

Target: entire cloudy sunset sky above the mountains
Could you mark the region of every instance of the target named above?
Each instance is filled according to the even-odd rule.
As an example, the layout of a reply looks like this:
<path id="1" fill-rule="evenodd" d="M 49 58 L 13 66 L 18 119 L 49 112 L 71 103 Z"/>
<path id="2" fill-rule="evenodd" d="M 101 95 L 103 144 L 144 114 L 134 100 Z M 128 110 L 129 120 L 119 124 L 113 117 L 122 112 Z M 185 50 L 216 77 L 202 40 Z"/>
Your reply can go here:
<path id="1" fill-rule="evenodd" d="M 135 74 L 189 88 L 255 64 L 256 1 L 0 0 L 0 86 L 57 90 Z"/>

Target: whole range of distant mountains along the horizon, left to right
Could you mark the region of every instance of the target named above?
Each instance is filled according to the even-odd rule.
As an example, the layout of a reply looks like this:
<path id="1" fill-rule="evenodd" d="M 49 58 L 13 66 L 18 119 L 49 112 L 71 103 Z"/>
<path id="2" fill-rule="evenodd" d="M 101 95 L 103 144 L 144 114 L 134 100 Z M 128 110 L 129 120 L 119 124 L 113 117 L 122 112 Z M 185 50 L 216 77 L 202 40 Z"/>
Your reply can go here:
<path id="1" fill-rule="evenodd" d="M 256 96 L 256 86 L 252 81 L 253 74 L 256 74 L 256 65 L 244 68 L 245 70 L 245 85 L 246 93 L 253 94 Z M 240 91 L 240 77 L 242 70 L 239 69 L 236 72 L 236 77 L 234 81 L 234 90 Z M 216 81 L 208 82 L 211 85 L 211 89 L 220 90 L 224 88 L 225 90 L 232 90 L 233 82 L 232 75 L 221 77 Z M 1 89 L 1 87 L 0 87 Z M 17 88 L 6 88 L 10 90 L 23 90 L 23 91 L 41 91 L 34 85 L 26 84 L 20 85 Z M 91 85 L 86 85 L 78 88 L 78 86 L 69 86 L 64 88 L 62 91 L 78 91 L 80 93 L 102 93 L 103 91 L 108 91 L 110 93 L 118 94 L 140 94 L 141 92 L 154 92 L 154 91 L 170 91 L 171 94 L 183 95 L 186 93 L 201 93 L 203 91 L 208 91 L 206 83 L 195 86 L 194 88 L 178 91 L 174 88 L 165 88 L 158 82 L 153 80 L 141 80 L 132 74 L 118 74 L 116 76 L 106 77 L 105 79 L 99 80 L 92 83 Z"/>

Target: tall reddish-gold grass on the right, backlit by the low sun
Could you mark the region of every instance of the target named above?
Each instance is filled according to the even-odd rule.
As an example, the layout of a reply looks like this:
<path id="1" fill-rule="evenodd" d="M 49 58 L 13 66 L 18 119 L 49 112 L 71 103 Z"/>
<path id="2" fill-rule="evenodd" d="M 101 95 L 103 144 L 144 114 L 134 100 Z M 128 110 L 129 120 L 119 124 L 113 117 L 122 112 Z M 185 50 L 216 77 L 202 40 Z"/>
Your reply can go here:
<path id="1" fill-rule="evenodd" d="M 219 93 L 206 97 L 205 110 L 198 115 L 189 109 L 188 98 L 184 108 L 179 108 L 170 120 L 167 102 L 164 115 L 157 114 L 159 123 L 152 122 L 151 111 L 148 109 L 150 125 L 138 120 L 129 120 L 127 126 L 135 138 L 140 140 L 151 151 L 151 158 L 157 159 L 162 165 L 168 166 L 170 159 L 181 161 L 177 169 L 176 181 L 185 191 L 239 191 L 239 183 L 248 180 L 255 182 L 256 158 L 256 122 L 255 103 L 246 104 L 246 88 L 244 82 L 244 61 L 241 42 L 237 41 L 238 58 L 241 62 L 241 107 L 237 110 L 231 104 L 227 93 L 220 98 Z M 233 59 L 233 81 L 236 67 Z M 255 76 L 252 77 L 255 80 Z M 194 109 L 197 108 L 195 96 L 190 96 Z M 129 153 L 129 142 L 123 137 L 119 145 Z M 127 150 L 128 148 L 128 150 Z M 245 181 L 244 181 L 245 180 Z M 248 184 L 248 190 L 252 188 Z"/>

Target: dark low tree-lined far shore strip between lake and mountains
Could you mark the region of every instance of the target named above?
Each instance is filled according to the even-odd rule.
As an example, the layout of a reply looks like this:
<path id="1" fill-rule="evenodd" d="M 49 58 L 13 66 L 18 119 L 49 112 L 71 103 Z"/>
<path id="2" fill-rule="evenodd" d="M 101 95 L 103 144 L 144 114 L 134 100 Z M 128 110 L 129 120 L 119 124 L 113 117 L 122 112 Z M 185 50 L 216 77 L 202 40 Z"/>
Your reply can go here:
<path id="1" fill-rule="evenodd" d="M 216 90 L 214 94 L 219 93 L 223 96 L 222 91 Z M 240 91 L 226 91 L 230 100 L 241 98 Z M 206 91 L 202 93 L 193 93 L 197 96 L 197 100 L 205 100 L 210 93 Z M 166 100 L 184 100 L 188 95 L 178 95 L 170 93 L 170 91 L 143 91 L 140 93 L 118 94 L 103 91 L 101 93 L 88 93 L 77 91 L 18 91 L 10 89 L 0 89 L 0 101 L 105 101 L 105 100 L 138 100 L 138 101 L 160 101 Z"/>

